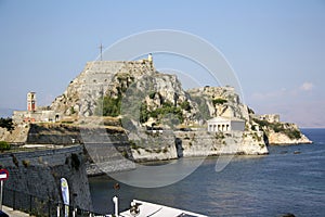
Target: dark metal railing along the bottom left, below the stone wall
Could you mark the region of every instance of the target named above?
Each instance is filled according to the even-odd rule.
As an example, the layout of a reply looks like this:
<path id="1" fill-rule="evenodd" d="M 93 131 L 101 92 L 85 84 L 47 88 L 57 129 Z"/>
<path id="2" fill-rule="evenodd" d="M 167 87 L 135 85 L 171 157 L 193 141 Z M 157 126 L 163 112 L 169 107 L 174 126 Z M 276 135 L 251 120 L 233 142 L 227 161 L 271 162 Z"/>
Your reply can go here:
<path id="1" fill-rule="evenodd" d="M 61 217 L 65 216 L 65 213 L 68 214 L 68 217 L 105 216 L 105 214 L 66 206 L 62 202 L 5 188 L 3 189 L 3 205 L 12 207 L 14 210 L 22 210 L 30 216 L 40 217 Z"/>

